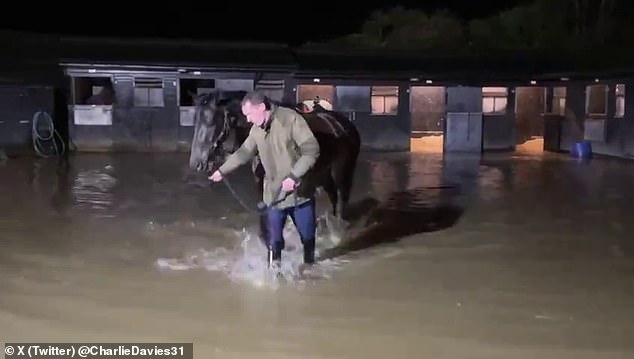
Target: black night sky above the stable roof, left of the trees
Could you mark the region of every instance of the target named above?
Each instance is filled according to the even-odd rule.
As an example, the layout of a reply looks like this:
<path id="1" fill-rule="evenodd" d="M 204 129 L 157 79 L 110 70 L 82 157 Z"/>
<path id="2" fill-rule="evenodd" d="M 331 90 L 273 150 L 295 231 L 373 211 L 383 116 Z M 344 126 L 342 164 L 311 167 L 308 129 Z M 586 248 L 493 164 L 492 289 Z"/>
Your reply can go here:
<path id="1" fill-rule="evenodd" d="M 344 5 L 343 1 L 304 1 L 289 7 L 282 6 L 280 1 L 260 1 L 251 5 L 247 5 L 245 0 L 203 0 L 196 4 L 184 0 L 163 3 L 163 0 L 155 0 L 138 4 L 132 0 L 113 1 L 84 0 L 79 2 L 85 5 L 82 7 L 62 1 L 39 5 L 31 1 L 17 4 L 13 13 L 5 5 L 0 15 L 0 27 L 81 35 L 241 39 L 297 44 L 355 32 L 372 10 L 397 4 L 377 0 L 360 2 L 365 5 L 354 7 Z M 398 4 L 427 11 L 449 8 L 463 18 L 473 18 L 495 13 L 502 7 L 519 2 L 525 1 L 403 0 Z M 130 10 L 131 4 L 138 5 L 138 9 Z M 260 15 L 261 19 L 244 22 L 245 10 Z M 294 16 L 282 15 L 282 11 Z M 53 12 L 58 12 L 59 16 L 54 16 Z M 81 15 L 84 17 L 80 18 Z"/>

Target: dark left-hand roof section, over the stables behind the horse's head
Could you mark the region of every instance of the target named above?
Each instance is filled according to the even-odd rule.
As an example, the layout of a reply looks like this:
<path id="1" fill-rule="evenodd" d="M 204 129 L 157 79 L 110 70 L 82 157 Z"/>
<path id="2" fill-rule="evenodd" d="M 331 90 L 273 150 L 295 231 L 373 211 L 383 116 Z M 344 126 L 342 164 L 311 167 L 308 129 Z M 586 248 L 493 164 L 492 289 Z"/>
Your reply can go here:
<path id="1" fill-rule="evenodd" d="M 190 39 L 108 38 L 0 32 L 3 63 L 108 64 L 139 66 L 214 67 L 232 70 L 292 71 L 295 60 L 289 47 L 277 43 L 198 41 Z M 7 56 L 8 55 L 8 56 Z"/>

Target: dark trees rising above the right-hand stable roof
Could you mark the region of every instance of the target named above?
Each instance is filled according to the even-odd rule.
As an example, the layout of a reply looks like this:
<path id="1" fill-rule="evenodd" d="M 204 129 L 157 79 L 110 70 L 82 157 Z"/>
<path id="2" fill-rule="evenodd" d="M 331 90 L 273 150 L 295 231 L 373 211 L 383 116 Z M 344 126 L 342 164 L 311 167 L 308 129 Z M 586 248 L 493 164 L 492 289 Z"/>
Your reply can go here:
<path id="1" fill-rule="evenodd" d="M 385 49 L 548 50 L 626 47 L 634 40 L 632 0 L 533 0 L 463 24 L 447 10 L 431 15 L 396 6 L 374 11 L 359 33 L 331 44 Z"/>

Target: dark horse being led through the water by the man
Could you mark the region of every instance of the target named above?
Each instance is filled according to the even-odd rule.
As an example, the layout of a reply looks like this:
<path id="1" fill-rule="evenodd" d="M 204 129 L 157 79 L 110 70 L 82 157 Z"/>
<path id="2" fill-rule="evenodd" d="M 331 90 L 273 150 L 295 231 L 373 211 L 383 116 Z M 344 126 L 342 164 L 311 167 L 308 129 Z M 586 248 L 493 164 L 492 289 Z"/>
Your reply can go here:
<path id="1" fill-rule="evenodd" d="M 244 91 L 227 91 L 206 93 L 195 99 L 195 127 L 189 158 L 191 169 L 214 171 L 246 139 L 251 124 L 241 110 L 245 95 Z M 361 147 L 357 128 L 347 116 L 334 111 L 319 108 L 305 113 L 301 104 L 286 107 L 295 109 L 306 119 L 320 147 L 319 158 L 301 179 L 299 190 L 301 186 L 323 188 L 332 204 L 333 215 L 342 218 L 350 198 Z M 264 169 L 257 156 L 252 170 L 261 194 Z"/>

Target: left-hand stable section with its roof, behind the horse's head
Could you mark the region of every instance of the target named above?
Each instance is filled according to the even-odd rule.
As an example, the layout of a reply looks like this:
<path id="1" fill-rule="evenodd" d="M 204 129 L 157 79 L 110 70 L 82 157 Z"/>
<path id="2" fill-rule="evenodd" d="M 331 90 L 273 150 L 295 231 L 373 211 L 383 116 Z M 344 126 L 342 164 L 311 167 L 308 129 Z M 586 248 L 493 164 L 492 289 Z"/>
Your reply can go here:
<path id="1" fill-rule="evenodd" d="M 188 151 L 194 96 L 262 87 L 282 100 L 294 69 L 276 44 L 71 38 L 61 47 L 78 49 L 60 65 L 80 151 Z"/>

